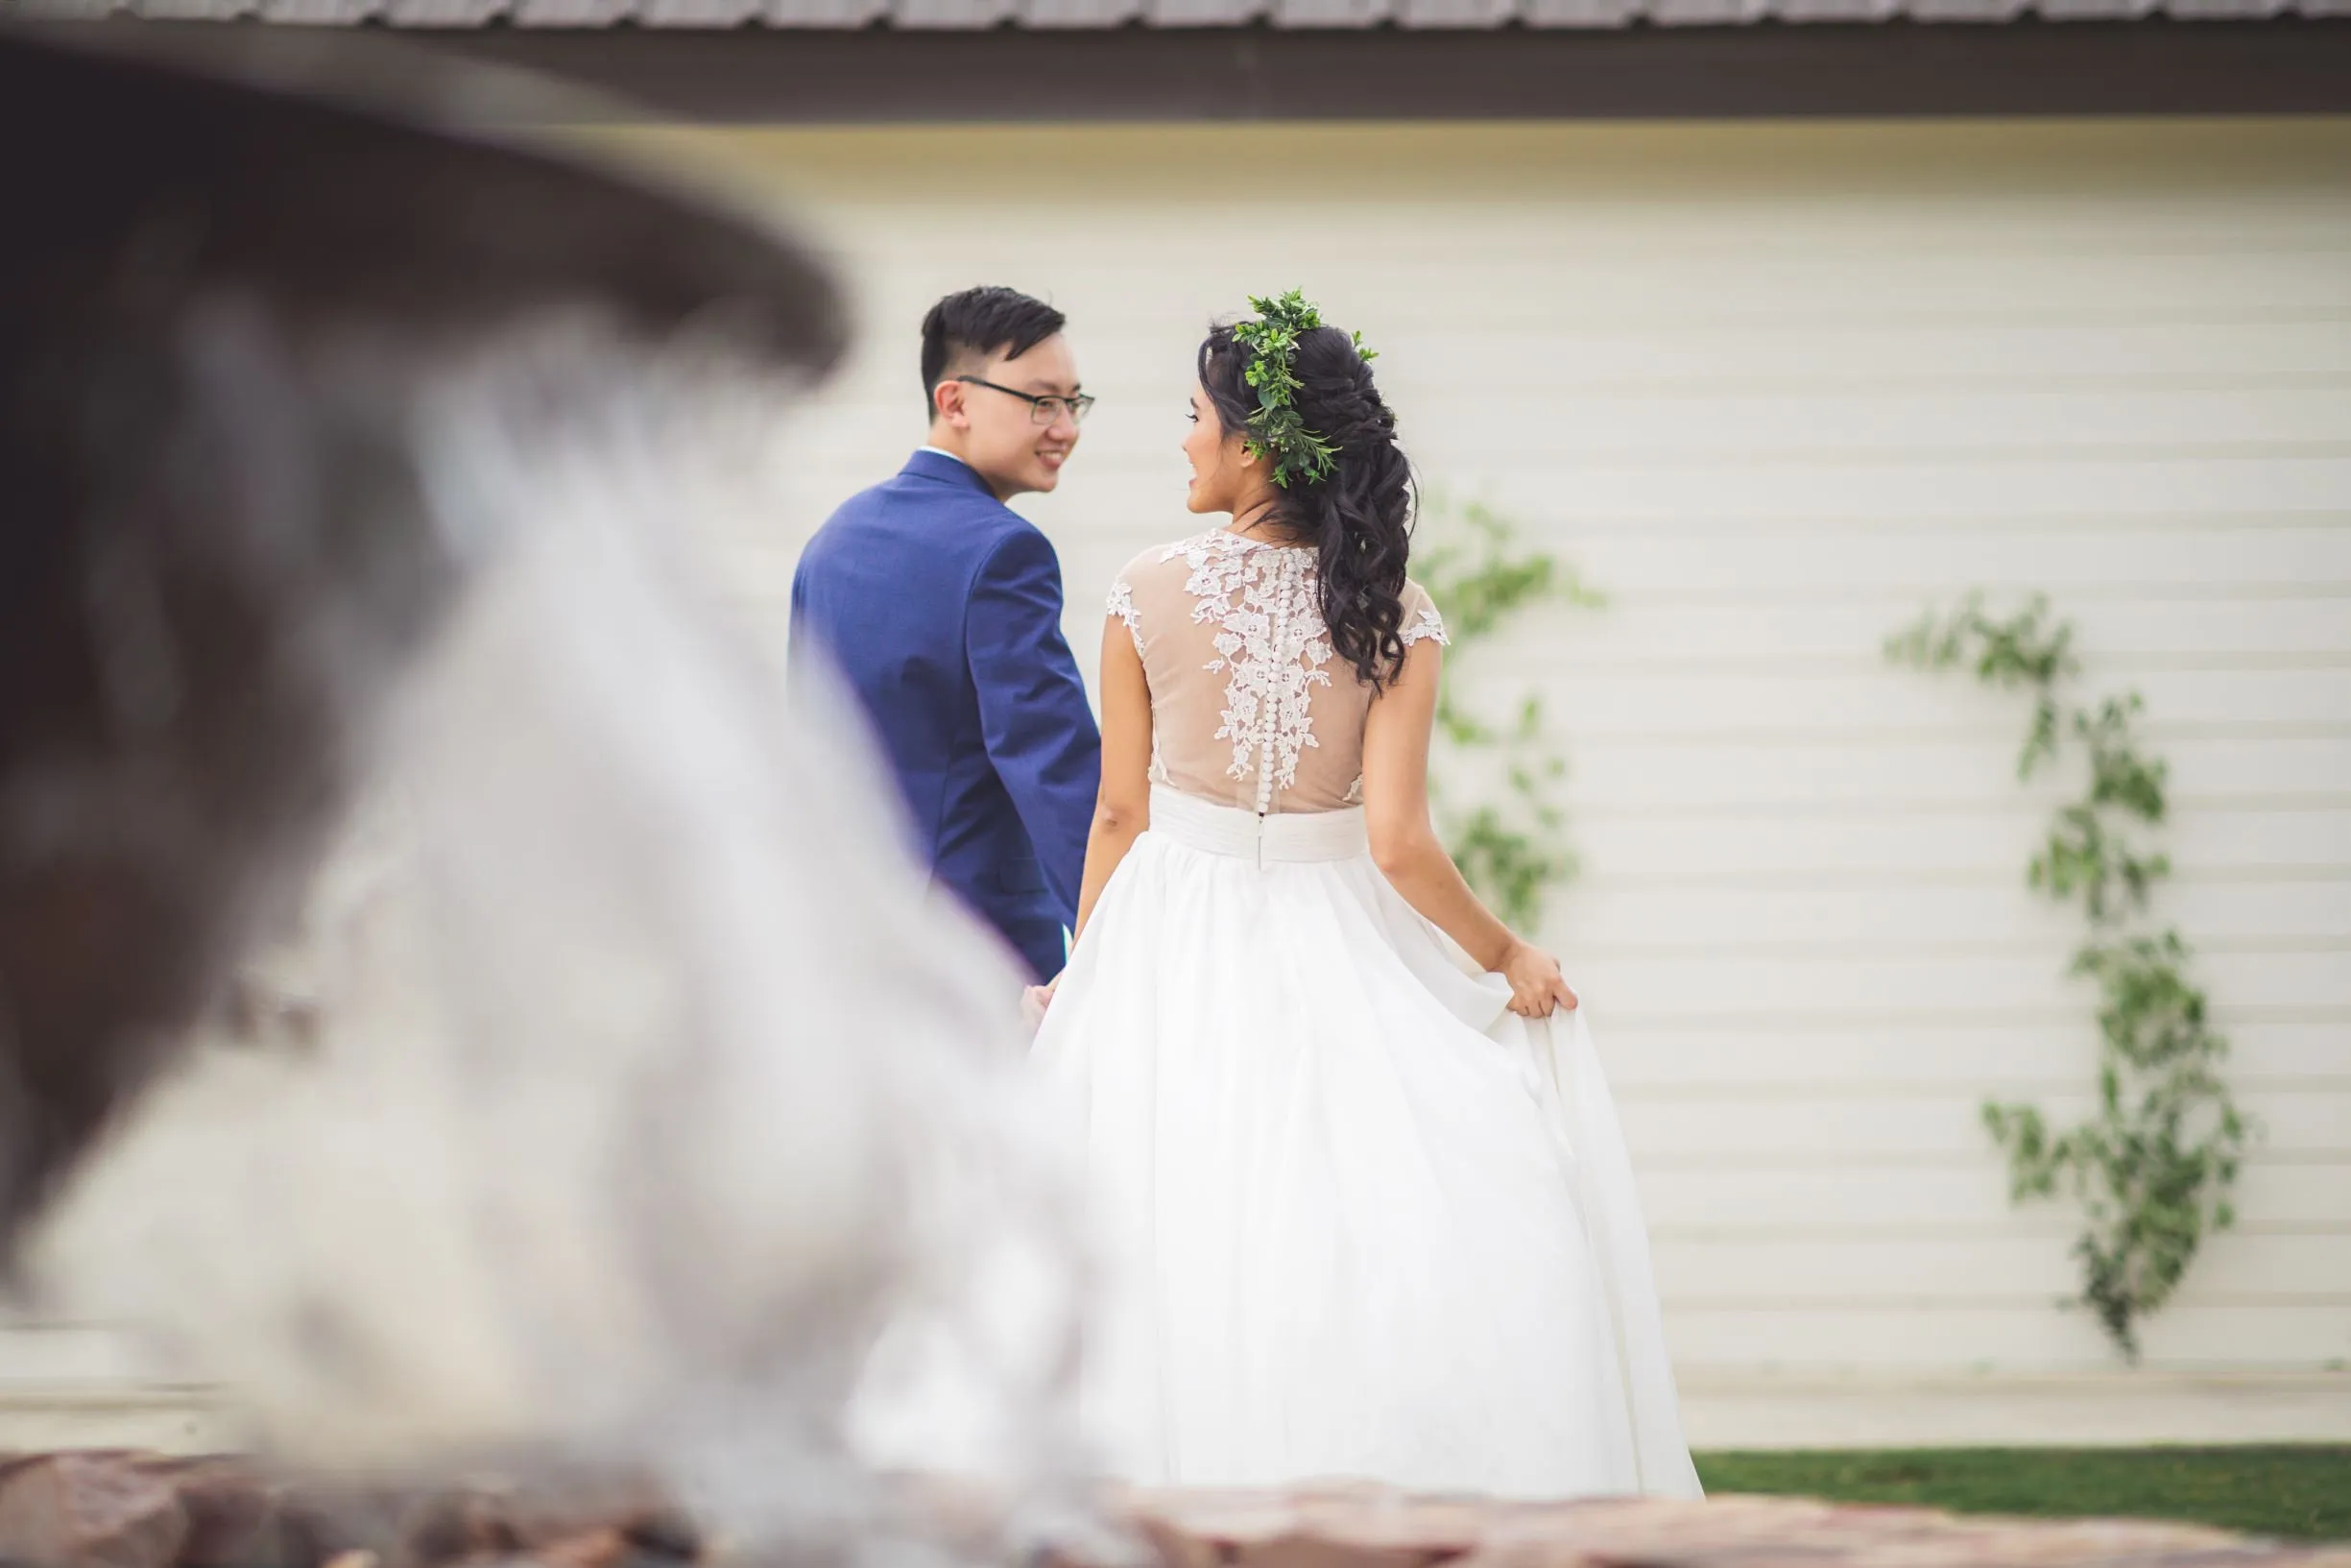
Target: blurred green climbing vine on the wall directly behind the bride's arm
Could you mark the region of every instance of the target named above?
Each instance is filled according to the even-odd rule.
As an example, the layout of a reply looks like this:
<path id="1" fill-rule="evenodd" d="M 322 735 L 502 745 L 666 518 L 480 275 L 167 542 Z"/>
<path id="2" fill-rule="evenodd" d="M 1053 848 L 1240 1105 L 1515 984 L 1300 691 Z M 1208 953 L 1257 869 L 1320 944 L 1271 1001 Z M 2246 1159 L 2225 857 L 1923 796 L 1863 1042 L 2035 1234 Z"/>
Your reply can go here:
<path id="1" fill-rule="evenodd" d="M 1542 698 L 1526 693 L 1516 715 L 1493 719 L 1460 696 L 1460 672 L 1474 663 L 1476 644 L 1538 604 L 1596 609 L 1606 599 L 1573 567 L 1521 550 L 1516 527 L 1493 508 L 1436 503 L 1429 515 L 1434 541 L 1415 552 L 1413 576 L 1436 599 L 1453 642 L 1436 698 L 1436 733 L 1451 755 L 1439 771 L 1493 771 L 1500 783 L 1474 799 L 1469 792 L 1455 797 L 1458 785 L 1432 783 L 1436 825 L 1469 886 L 1505 922 L 1531 929 L 1542 919 L 1549 891 L 1578 870 L 1554 799 L 1566 762 L 1545 731 Z M 1486 759 L 1483 769 L 1476 757 Z"/>

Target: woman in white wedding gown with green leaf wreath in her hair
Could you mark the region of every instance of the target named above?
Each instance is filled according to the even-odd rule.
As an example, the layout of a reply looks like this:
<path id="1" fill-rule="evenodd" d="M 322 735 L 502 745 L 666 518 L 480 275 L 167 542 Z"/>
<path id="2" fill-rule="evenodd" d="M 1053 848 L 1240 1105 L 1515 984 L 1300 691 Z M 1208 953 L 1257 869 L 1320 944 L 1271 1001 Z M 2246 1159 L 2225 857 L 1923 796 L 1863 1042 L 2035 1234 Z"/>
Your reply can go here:
<path id="1" fill-rule="evenodd" d="M 1084 1418 L 1140 1483 L 1697 1495 L 1559 964 L 1429 825 L 1446 630 L 1371 355 L 1295 292 L 1199 350 L 1187 505 L 1103 637 L 1034 1053 L 1126 1248 Z"/>

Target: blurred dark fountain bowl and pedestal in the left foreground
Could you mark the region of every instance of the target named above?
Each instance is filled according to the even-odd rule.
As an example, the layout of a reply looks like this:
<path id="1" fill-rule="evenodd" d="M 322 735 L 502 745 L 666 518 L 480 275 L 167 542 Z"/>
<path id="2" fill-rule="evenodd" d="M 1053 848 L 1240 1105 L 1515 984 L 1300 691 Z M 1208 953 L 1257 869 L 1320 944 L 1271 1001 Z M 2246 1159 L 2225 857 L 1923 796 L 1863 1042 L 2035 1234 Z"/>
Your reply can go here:
<path id="1" fill-rule="evenodd" d="M 550 320 L 842 350 L 757 226 L 437 127 L 447 66 L 402 118 L 287 59 L 0 31 L 0 1267 L 299 889 L 463 583 L 435 369 Z"/>

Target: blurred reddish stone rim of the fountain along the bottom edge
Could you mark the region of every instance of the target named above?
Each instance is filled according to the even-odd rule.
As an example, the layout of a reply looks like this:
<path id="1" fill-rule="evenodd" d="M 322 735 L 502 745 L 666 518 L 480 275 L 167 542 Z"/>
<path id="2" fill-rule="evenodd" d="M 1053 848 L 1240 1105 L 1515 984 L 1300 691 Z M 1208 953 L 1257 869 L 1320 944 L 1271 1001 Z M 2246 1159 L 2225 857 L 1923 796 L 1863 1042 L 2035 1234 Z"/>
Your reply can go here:
<path id="1" fill-rule="evenodd" d="M 917 1497 L 926 1495 L 915 1486 Z M 952 1495 L 940 1497 L 952 1512 Z M 1382 1488 L 1136 1493 L 1117 1505 L 1159 1568 L 2346 1568 L 2123 1519 L 1954 1519 L 1791 1497 L 1488 1502 Z M 26 1568 L 661 1568 L 705 1556 L 694 1526 L 625 1483 L 306 1493 L 240 1460 L 56 1453 L 0 1462 L 0 1561 Z M 1089 1568 L 1046 1552 L 1049 1568 Z"/>

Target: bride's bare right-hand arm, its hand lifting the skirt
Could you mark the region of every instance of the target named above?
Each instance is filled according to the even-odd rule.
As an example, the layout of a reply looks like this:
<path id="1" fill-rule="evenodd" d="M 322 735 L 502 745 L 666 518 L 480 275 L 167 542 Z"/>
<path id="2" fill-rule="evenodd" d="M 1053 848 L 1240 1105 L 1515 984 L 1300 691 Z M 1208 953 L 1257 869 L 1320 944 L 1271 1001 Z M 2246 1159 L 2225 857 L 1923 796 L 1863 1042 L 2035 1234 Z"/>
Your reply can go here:
<path id="1" fill-rule="evenodd" d="M 1404 670 L 1371 703 L 1364 729 L 1364 825 L 1371 830 L 1371 858 L 1429 924 L 1460 943 L 1479 966 L 1509 980 L 1514 1013 L 1542 1018 L 1554 1006 L 1575 1006 L 1575 992 L 1559 978 L 1559 961 L 1521 940 L 1479 903 L 1429 820 L 1429 736 L 1436 729 L 1441 677 L 1444 644 L 1425 637 L 1404 651 Z M 1107 724 L 1103 741 L 1107 785 Z M 1093 884 L 1091 856 L 1086 884 Z"/>

